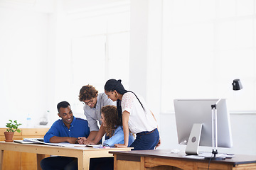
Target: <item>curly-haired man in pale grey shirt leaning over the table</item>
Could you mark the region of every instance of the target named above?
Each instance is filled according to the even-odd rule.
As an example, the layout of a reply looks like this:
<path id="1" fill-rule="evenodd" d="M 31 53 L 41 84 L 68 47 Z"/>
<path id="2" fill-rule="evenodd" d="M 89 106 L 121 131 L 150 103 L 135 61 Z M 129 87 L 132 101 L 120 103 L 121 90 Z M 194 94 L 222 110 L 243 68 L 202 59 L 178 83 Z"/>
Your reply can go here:
<path id="1" fill-rule="evenodd" d="M 83 144 L 97 144 L 105 135 L 105 129 L 100 120 L 101 108 L 107 105 L 115 106 L 116 103 L 108 98 L 105 93 L 98 94 L 95 87 L 89 84 L 82 86 L 82 89 L 80 89 L 79 100 L 85 105 L 84 113 L 90 127 L 90 135 L 87 138 L 80 137 L 79 140 L 82 140 Z M 98 123 L 101 125 L 100 128 Z"/>

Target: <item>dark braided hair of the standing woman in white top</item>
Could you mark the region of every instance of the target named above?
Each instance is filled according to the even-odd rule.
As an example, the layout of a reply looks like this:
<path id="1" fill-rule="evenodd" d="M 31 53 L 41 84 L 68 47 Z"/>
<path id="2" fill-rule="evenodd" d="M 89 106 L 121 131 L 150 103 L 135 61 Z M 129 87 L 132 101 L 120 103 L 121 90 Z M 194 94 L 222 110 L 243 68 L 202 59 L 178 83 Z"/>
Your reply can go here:
<path id="1" fill-rule="evenodd" d="M 127 91 L 126 89 L 124 89 L 124 86 L 121 84 L 121 81 L 122 80 L 116 80 L 116 79 L 109 79 L 105 86 L 104 86 L 104 89 L 105 91 L 107 92 L 110 92 L 110 91 L 117 91 L 117 93 L 119 94 L 125 94 L 127 92 L 132 92 L 132 91 Z M 134 94 L 134 92 L 132 92 Z M 134 94 L 136 96 L 136 98 L 138 99 L 139 101 L 139 98 L 137 97 L 136 94 Z M 142 105 L 142 103 L 139 101 L 139 103 Z M 144 110 L 144 107 L 142 106 L 143 110 Z M 117 100 L 117 116 L 119 118 L 119 121 L 122 122 L 122 107 L 121 107 L 121 101 L 120 100 Z"/>

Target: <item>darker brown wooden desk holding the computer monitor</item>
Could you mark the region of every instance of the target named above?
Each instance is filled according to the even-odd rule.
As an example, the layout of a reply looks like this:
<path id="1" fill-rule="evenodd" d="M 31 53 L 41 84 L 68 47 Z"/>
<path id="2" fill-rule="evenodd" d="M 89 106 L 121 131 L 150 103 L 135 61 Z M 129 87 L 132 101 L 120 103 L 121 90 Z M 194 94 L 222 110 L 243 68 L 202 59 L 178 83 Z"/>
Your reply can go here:
<path id="1" fill-rule="evenodd" d="M 208 169 L 208 160 L 184 158 L 184 154 L 171 154 L 171 150 L 145 150 L 110 152 L 114 154 L 117 169 Z M 256 169 L 256 155 L 235 155 L 232 159 L 211 161 L 209 169 Z"/>

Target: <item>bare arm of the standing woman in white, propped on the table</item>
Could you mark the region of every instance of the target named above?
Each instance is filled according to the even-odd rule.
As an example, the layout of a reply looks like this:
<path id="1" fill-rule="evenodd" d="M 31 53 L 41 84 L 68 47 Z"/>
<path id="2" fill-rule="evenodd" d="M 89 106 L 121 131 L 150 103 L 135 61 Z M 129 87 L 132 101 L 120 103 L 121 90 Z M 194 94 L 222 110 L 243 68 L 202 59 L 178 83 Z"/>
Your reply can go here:
<path id="1" fill-rule="evenodd" d="M 123 123 L 123 130 L 124 130 L 124 144 L 115 144 L 115 147 L 128 147 L 129 143 L 129 112 L 124 111 L 122 114 L 122 123 Z"/>

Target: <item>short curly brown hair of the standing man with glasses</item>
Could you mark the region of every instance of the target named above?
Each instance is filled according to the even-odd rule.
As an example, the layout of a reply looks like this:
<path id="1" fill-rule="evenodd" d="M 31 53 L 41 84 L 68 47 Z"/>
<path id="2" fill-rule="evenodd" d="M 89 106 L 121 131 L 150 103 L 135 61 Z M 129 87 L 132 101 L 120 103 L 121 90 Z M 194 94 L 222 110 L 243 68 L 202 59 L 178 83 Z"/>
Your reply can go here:
<path id="1" fill-rule="evenodd" d="M 79 93 L 79 101 L 90 100 L 97 97 L 98 91 L 92 85 L 82 86 Z"/>

